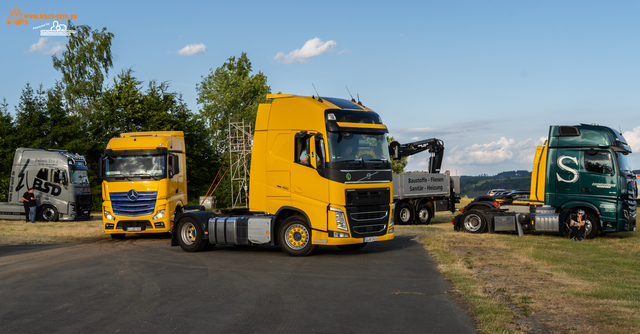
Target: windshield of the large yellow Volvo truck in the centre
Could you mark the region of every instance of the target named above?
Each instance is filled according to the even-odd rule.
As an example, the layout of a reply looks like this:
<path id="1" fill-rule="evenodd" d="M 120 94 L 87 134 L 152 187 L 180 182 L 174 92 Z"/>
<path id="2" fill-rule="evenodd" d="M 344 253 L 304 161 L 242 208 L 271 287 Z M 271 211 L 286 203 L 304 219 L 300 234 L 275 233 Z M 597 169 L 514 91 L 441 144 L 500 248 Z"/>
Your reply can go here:
<path id="1" fill-rule="evenodd" d="M 362 159 L 389 161 L 387 135 L 329 132 L 329 157 L 333 162 Z"/>

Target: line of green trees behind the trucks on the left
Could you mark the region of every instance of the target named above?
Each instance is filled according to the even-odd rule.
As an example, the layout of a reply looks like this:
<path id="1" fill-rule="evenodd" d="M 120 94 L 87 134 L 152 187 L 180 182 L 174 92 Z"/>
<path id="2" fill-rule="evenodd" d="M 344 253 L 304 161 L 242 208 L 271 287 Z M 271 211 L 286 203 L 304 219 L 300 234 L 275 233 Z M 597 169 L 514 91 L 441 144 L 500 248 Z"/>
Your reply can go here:
<path id="1" fill-rule="evenodd" d="M 53 56 L 53 67 L 61 72 L 54 87 L 22 90 L 15 116 L 3 99 L 0 103 L 0 201 L 7 200 L 13 155 L 18 147 L 63 149 L 84 155 L 89 165 L 94 210 L 102 204 L 98 160 L 107 142 L 123 132 L 184 131 L 187 149 L 189 202 L 204 195 L 218 170 L 228 166 L 225 148 L 229 120 L 255 123 L 258 103 L 266 101 L 270 88 L 261 72 L 251 74 L 251 62 L 242 53 L 230 57 L 202 77 L 197 86 L 194 113 L 182 95 L 167 82 L 143 83 L 132 69 L 123 69 L 105 83 L 113 67 L 111 43 L 114 35 L 73 26 L 66 49 Z M 221 207 L 230 205 L 228 181 L 216 191 Z"/>

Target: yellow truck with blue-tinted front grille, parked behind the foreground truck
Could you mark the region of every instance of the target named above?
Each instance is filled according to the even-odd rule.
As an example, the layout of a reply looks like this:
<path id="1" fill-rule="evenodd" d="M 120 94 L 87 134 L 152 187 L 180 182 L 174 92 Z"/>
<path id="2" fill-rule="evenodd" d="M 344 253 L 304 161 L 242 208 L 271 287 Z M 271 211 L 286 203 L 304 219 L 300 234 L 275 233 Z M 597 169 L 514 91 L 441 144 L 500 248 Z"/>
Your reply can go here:
<path id="1" fill-rule="evenodd" d="M 127 233 L 168 233 L 187 203 L 184 133 L 123 133 L 112 138 L 99 163 L 102 227 Z"/>

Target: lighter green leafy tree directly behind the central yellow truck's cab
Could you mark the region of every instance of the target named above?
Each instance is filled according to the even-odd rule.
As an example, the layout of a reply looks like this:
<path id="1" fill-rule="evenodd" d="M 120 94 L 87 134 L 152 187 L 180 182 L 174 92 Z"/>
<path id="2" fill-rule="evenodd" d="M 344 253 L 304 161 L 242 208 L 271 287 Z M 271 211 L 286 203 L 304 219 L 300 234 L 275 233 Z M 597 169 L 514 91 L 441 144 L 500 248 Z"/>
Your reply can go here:
<path id="1" fill-rule="evenodd" d="M 251 61 L 243 52 L 238 59 L 232 56 L 202 77 L 196 91 L 197 102 L 202 104 L 200 114 L 207 121 L 214 149 L 224 156 L 228 148 L 229 121 L 244 121 L 254 128 L 258 104 L 267 101 L 271 87 L 262 72 L 251 75 Z"/>

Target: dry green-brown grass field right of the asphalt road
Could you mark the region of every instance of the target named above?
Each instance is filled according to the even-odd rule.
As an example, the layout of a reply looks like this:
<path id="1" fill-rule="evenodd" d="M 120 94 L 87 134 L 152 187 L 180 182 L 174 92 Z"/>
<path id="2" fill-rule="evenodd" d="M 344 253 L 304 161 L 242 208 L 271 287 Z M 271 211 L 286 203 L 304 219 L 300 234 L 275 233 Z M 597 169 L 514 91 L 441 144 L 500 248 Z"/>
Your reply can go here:
<path id="1" fill-rule="evenodd" d="M 398 228 L 421 237 L 480 332 L 640 332 L 640 234 L 470 234 L 450 218 Z"/>

